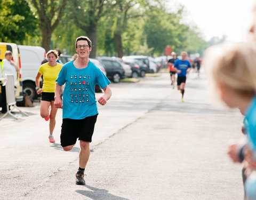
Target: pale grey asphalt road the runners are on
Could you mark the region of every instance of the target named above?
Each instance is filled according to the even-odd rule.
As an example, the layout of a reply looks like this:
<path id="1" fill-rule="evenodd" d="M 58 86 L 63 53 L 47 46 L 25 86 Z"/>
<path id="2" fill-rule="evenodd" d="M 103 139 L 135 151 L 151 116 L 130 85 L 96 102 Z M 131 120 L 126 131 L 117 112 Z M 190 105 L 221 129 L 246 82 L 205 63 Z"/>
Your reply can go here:
<path id="1" fill-rule="evenodd" d="M 213 103 L 204 76 L 189 75 L 183 103 L 169 74 L 111 89 L 99 105 L 85 186 L 75 185 L 79 146 L 60 146 L 61 110 L 55 144 L 38 102 L 22 108 L 29 117 L 2 119 L 0 199 L 243 199 L 241 166 L 226 155 L 242 116 Z"/>

